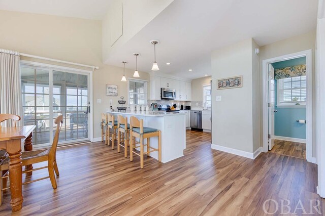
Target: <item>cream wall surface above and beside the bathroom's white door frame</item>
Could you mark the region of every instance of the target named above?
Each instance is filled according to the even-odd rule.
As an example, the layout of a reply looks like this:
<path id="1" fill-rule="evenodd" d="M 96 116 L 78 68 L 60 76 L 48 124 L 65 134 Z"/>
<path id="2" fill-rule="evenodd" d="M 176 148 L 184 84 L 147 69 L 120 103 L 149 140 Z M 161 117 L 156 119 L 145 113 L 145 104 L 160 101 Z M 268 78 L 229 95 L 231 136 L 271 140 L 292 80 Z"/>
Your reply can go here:
<path id="1" fill-rule="evenodd" d="M 295 37 L 290 37 L 284 40 L 280 40 L 274 42 L 273 44 L 269 44 L 261 47 L 259 53 L 260 59 L 260 71 L 262 71 L 262 61 L 270 58 L 275 58 L 278 56 L 283 56 L 287 54 L 297 53 L 304 50 L 312 50 L 312 156 L 315 157 L 316 149 L 315 149 L 315 39 L 316 39 L 316 29 L 305 34 L 301 34 Z M 260 79 L 262 83 L 262 76 Z M 262 92 L 262 85 L 260 92 Z M 262 107 L 262 101 L 261 105 Z M 262 121 L 261 121 L 262 128 Z M 263 146 L 263 142 L 261 142 L 261 146 Z"/>

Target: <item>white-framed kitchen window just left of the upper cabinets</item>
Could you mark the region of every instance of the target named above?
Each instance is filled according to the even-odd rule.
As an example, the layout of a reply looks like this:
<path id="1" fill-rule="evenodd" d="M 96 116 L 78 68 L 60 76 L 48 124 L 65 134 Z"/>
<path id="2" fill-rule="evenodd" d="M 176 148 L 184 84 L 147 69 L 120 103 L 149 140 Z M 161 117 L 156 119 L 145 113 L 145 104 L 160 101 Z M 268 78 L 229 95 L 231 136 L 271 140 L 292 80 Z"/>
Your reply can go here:
<path id="1" fill-rule="evenodd" d="M 128 79 L 128 104 L 147 105 L 148 102 L 148 82 L 138 79 Z"/>

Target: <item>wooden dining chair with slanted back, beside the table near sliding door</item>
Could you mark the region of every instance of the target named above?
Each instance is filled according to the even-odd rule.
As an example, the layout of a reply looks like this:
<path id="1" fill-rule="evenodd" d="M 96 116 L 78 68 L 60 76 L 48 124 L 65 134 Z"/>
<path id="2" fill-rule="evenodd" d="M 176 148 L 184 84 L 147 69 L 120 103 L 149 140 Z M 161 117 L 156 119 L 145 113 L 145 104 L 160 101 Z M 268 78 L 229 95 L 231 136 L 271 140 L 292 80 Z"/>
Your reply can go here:
<path id="1" fill-rule="evenodd" d="M 63 123 L 63 115 L 59 115 L 55 118 L 54 123 L 57 124 L 56 127 L 56 131 L 55 131 L 55 135 L 54 135 L 54 139 L 53 139 L 53 143 L 51 148 L 49 149 L 40 149 L 40 150 L 32 150 L 32 151 L 26 151 L 26 152 L 22 152 L 21 153 L 21 159 L 22 159 L 22 165 L 26 166 L 26 165 L 30 165 L 30 164 L 35 164 L 35 163 L 40 163 L 43 161 L 48 161 L 48 165 L 47 166 L 43 166 L 40 168 L 35 168 L 35 169 L 29 169 L 29 170 L 23 170 L 22 173 L 27 173 L 27 172 L 31 172 L 31 171 L 36 171 L 36 170 L 40 170 L 40 169 L 44 169 L 47 168 L 48 172 L 49 172 L 49 176 L 47 177 L 43 177 L 40 179 L 36 179 L 36 180 L 32 180 L 32 181 L 26 181 L 23 183 L 23 185 L 25 184 L 29 184 L 32 182 L 37 182 L 43 179 L 48 179 L 50 178 L 51 184 L 53 189 L 57 188 L 56 185 L 56 180 L 54 177 L 54 172 L 56 174 L 56 176 L 59 176 L 59 170 L 57 167 L 57 163 L 56 163 L 56 147 L 57 147 L 57 143 L 58 143 L 58 139 L 59 139 L 59 133 L 60 133 L 60 129 Z M 0 162 L 0 170 L 1 171 L 6 171 L 6 173 L 1 177 L 1 179 L 7 179 L 9 178 L 9 157 L 7 157 L 6 159 L 4 159 L 2 162 Z M 0 181 L 1 183 L 3 181 Z M 2 193 L 3 191 L 9 189 L 10 187 L 7 187 L 6 185 L 1 184 L 1 200 L 0 200 L 0 205 L 2 203 Z"/>

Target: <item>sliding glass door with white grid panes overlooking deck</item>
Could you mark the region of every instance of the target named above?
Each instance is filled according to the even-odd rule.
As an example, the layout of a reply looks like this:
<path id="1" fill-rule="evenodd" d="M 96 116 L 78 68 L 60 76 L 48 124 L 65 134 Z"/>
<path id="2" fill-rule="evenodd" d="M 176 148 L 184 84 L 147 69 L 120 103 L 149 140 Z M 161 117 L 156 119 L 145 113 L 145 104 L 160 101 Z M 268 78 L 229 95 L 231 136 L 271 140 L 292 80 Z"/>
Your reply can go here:
<path id="1" fill-rule="evenodd" d="M 89 83 L 89 73 L 21 65 L 23 121 L 36 125 L 34 145 L 52 144 L 60 114 L 59 144 L 89 140 Z"/>

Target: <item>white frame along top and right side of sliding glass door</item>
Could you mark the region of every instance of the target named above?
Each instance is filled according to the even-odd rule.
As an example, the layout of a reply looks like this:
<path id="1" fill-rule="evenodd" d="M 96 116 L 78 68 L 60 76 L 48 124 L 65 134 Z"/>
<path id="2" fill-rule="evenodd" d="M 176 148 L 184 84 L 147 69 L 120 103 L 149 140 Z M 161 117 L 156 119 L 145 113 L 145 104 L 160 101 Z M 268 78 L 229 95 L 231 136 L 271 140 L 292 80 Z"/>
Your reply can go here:
<path id="1" fill-rule="evenodd" d="M 20 64 L 25 64 L 25 65 L 31 65 L 31 66 L 36 66 L 36 67 L 44 67 L 44 68 L 54 68 L 61 70 L 63 72 L 80 72 L 80 73 L 86 73 L 89 74 L 89 80 L 88 80 L 88 95 L 89 95 L 89 102 L 90 102 L 90 115 L 88 117 L 88 125 L 89 125 L 89 131 L 88 131 L 88 139 L 84 140 L 90 140 L 90 142 L 93 141 L 93 95 L 92 95 L 92 70 L 83 70 L 83 69 L 78 69 L 78 68 L 73 68 L 73 67 L 66 67 L 66 66 L 59 66 L 59 65 L 52 65 L 52 64 L 46 64 L 46 63 L 41 63 L 41 62 L 34 62 L 34 61 L 28 61 L 28 60 L 20 60 Z M 50 88 L 50 92 L 51 92 Z M 82 140 L 80 140 L 82 142 Z M 62 141 L 59 142 L 60 144 L 66 144 L 69 143 L 69 141 Z M 50 141 L 51 144 L 51 141 Z M 41 144 L 42 145 L 42 144 Z M 41 145 L 38 145 L 41 147 Z"/>

